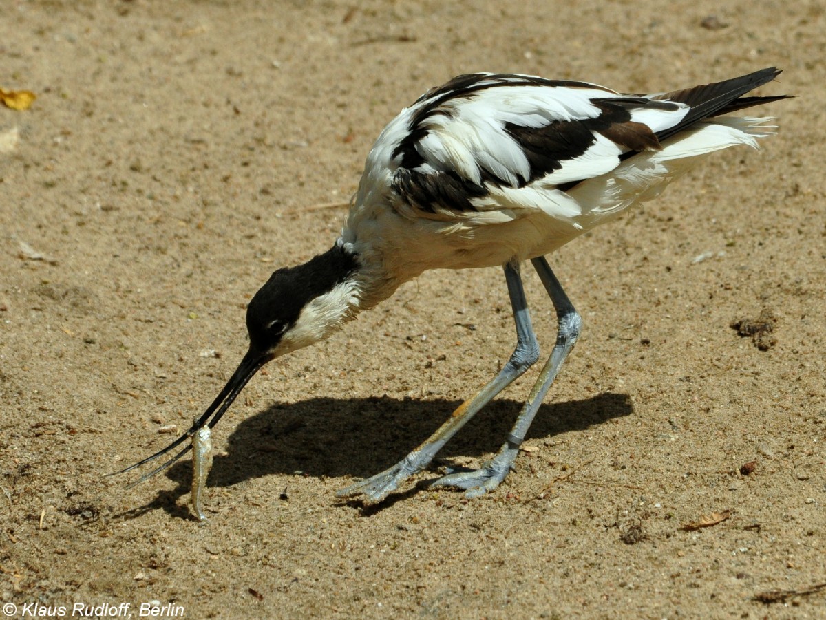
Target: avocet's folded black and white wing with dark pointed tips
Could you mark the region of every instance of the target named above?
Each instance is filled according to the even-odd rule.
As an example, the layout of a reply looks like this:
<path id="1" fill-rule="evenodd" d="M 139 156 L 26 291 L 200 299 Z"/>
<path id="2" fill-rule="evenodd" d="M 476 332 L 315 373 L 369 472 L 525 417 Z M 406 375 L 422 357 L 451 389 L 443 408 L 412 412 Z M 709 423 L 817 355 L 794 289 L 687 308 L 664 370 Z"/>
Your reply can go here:
<path id="1" fill-rule="evenodd" d="M 408 217 L 484 223 L 542 211 L 570 223 L 582 209 L 564 191 L 661 151 L 697 121 L 781 98 L 742 97 L 776 73 L 651 96 L 506 73 L 458 76 L 388 125 L 368 166 L 386 166 Z"/>

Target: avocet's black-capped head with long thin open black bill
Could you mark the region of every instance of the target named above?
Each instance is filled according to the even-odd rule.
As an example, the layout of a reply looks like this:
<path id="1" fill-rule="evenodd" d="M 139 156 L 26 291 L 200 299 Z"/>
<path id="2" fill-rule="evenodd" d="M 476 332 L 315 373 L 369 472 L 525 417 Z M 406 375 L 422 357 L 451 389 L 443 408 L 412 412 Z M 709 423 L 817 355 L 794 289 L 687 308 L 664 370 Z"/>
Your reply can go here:
<path id="1" fill-rule="evenodd" d="M 273 272 L 249 301 L 249 350 L 224 389 L 186 433 L 151 457 L 117 473 L 154 461 L 184 443 L 207 424 L 210 428 L 214 427 L 264 364 L 326 338 L 352 318 L 358 312 L 358 284 L 353 278 L 357 270 L 357 257 L 344 248 L 339 240 L 333 248 L 302 265 L 284 267 Z M 163 471 L 191 448 L 192 446 L 183 448 L 134 484 Z"/>

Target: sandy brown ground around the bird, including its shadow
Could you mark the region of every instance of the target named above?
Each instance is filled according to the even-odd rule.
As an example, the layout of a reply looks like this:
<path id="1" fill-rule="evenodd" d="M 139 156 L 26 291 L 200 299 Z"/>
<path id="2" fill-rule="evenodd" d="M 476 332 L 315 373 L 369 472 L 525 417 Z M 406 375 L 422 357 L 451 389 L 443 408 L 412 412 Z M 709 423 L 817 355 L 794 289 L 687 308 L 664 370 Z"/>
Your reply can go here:
<path id="1" fill-rule="evenodd" d="M 0 3 L 0 87 L 38 96 L 0 109 L 4 613 L 826 615 L 823 4 L 571 6 Z M 208 524 L 188 459 L 103 477 L 216 395 L 251 294 L 330 246 L 330 204 L 427 88 L 491 70 L 651 92 L 771 65 L 762 93 L 797 96 L 761 112 L 778 136 L 552 257 L 585 331 L 496 492 L 425 482 L 496 451 L 536 370 L 384 504 L 335 498 L 506 360 L 496 269 L 426 273 L 267 367 L 216 427 Z M 761 317 L 762 338 L 731 327 Z"/>

